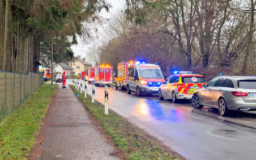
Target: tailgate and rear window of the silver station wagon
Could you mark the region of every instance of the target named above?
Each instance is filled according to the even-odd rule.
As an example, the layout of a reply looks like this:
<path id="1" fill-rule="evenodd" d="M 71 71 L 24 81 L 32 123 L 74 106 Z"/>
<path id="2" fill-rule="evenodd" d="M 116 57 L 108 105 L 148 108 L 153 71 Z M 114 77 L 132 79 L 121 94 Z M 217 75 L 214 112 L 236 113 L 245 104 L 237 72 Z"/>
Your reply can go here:
<path id="1" fill-rule="evenodd" d="M 238 87 L 247 96 L 242 96 L 244 102 L 256 102 L 256 79 L 239 80 Z"/>

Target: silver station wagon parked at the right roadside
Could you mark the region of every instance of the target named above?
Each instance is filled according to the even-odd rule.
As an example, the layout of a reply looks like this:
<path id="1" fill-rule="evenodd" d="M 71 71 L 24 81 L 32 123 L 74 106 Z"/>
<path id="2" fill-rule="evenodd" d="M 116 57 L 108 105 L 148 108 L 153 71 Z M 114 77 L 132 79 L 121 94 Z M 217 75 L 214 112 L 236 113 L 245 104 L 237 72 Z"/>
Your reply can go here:
<path id="1" fill-rule="evenodd" d="M 229 110 L 256 110 L 256 76 L 218 76 L 194 92 L 194 108 L 218 108 L 221 116 Z"/>

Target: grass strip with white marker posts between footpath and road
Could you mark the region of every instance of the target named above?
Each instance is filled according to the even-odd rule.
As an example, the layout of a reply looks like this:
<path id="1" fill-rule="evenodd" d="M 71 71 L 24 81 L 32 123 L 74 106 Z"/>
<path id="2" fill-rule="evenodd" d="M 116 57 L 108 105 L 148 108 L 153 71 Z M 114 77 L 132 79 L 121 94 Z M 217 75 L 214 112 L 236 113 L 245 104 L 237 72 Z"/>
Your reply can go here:
<path id="1" fill-rule="evenodd" d="M 72 85 L 70 87 L 76 94 L 79 94 L 80 100 L 98 124 L 102 126 L 104 132 L 110 136 L 112 142 L 124 152 L 128 160 L 178 160 L 154 144 L 149 138 L 144 137 L 124 118 L 111 110 L 108 115 L 105 115 L 104 107 L 100 102 L 96 101 L 92 104 L 91 96 L 88 95 L 87 98 L 84 98 L 84 92 L 80 94 L 80 90 L 77 91 Z"/>

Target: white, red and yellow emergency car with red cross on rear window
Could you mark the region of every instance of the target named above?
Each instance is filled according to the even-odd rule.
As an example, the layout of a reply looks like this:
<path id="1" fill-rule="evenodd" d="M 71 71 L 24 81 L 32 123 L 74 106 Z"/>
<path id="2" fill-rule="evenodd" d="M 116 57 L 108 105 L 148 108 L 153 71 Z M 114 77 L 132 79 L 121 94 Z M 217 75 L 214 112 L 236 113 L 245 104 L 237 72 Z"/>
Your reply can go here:
<path id="1" fill-rule="evenodd" d="M 206 84 L 204 76 L 193 74 L 190 71 L 175 71 L 173 75 L 162 82 L 158 96 L 160 99 L 172 98 L 172 102 L 178 99 L 191 99 L 194 92 Z"/>

